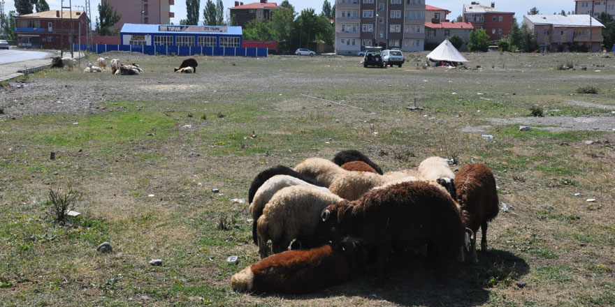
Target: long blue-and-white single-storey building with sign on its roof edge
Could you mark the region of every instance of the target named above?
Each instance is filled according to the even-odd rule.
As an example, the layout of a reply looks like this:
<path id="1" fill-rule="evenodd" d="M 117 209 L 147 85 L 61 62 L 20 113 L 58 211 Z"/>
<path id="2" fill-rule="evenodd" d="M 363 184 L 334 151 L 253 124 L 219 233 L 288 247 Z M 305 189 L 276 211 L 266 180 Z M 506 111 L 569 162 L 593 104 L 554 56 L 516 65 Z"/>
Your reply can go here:
<path id="1" fill-rule="evenodd" d="M 241 27 L 124 24 L 122 45 L 241 47 Z"/>

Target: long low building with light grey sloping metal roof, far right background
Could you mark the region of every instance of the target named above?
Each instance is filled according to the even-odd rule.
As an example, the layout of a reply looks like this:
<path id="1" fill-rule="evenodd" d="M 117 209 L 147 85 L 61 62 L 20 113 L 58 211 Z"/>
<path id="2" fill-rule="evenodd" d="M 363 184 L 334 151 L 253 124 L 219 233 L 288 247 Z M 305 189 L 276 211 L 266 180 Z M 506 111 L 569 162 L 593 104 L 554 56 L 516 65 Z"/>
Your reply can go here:
<path id="1" fill-rule="evenodd" d="M 564 52 L 571 47 L 578 50 L 579 46 L 598 52 L 605 39 L 605 26 L 589 15 L 524 15 L 523 22 L 534 32 L 538 44 L 550 46 L 551 52 Z"/>

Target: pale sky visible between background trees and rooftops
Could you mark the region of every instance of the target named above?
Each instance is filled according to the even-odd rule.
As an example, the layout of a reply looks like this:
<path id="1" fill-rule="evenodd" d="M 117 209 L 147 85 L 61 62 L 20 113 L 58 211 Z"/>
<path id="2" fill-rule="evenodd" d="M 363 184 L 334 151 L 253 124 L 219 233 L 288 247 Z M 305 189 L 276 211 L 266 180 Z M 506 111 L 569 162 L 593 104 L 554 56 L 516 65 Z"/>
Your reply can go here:
<path id="1" fill-rule="evenodd" d="M 2 0 L 0 0 L 2 1 Z M 14 0 L 4 0 L 4 11 L 8 13 L 9 10 L 15 10 L 15 1 Z M 139 1 L 139 0 L 126 0 L 126 1 Z M 213 0 L 212 0 L 213 1 Z M 259 0 L 244 0 L 244 3 L 252 3 L 257 2 Z M 269 0 L 269 2 L 275 2 L 276 0 Z M 295 10 L 301 11 L 305 8 L 314 8 L 316 13 L 320 13 L 322 9 L 322 3 L 324 0 L 289 0 L 289 2 L 295 6 Z M 386 1 L 386 0 L 379 0 Z M 470 4 L 472 0 L 427 0 L 427 4 L 430 6 L 436 6 L 438 8 L 445 8 L 450 10 L 452 13 L 447 15 L 449 20 L 454 20 L 458 15 L 461 15 L 463 11 L 463 4 Z M 477 1 L 477 0 L 474 0 Z M 90 5 L 92 6 L 92 15 L 90 19 L 92 22 L 96 20 L 98 16 L 98 5 L 100 0 L 90 0 Z M 203 7 L 205 6 L 206 0 L 201 0 L 201 9 L 199 11 L 203 11 Z M 281 3 L 282 0 L 277 0 L 277 3 Z M 335 3 L 335 0 L 329 0 L 330 3 Z M 491 0 L 479 0 L 482 5 L 490 6 Z M 61 7 L 61 0 L 47 0 L 49 3 L 49 7 L 52 10 L 59 10 Z M 65 6 L 68 6 L 68 0 L 64 1 Z M 215 1 L 214 1 L 215 3 Z M 224 0 L 224 9 L 226 10 L 226 14 L 229 13 L 228 8 L 235 5 L 234 0 Z M 85 0 L 72 0 L 73 9 L 82 10 L 82 8 L 77 6 L 84 6 Z M 519 21 L 519 24 L 523 22 L 523 15 L 528 13 L 530 8 L 536 6 L 541 14 L 553 14 L 560 13 L 561 10 L 565 10 L 566 13 L 574 10 L 574 0 L 495 0 L 495 8 L 499 10 L 506 10 L 509 12 L 514 12 L 514 17 Z M 185 0 L 175 0 L 175 5 L 171 6 L 171 12 L 175 13 L 175 18 L 171 19 L 173 24 L 179 24 L 180 20 L 186 17 L 186 1 Z M 121 12 L 120 12 L 121 13 Z M 201 13 L 201 18 L 199 19 L 201 22 L 203 21 L 203 14 Z"/>

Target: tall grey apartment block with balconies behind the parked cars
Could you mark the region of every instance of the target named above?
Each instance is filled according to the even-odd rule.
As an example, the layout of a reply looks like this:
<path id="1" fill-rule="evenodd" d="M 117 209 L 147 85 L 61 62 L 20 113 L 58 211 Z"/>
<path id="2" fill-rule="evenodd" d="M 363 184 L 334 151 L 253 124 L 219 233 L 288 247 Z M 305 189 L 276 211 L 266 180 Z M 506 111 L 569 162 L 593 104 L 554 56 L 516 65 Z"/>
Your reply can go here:
<path id="1" fill-rule="evenodd" d="M 337 54 L 356 54 L 370 46 L 422 51 L 424 44 L 424 0 L 335 1 Z"/>

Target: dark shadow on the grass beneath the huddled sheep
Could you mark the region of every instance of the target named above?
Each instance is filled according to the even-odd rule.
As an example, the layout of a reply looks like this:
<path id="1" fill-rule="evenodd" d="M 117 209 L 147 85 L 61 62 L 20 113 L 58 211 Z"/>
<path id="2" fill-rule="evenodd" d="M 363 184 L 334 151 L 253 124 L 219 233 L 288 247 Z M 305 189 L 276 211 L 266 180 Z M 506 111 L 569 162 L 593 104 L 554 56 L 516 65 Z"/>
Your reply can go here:
<path id="1" fill-rule="evenodd" d="M 386 278 L 361 274 L 349 282 L 314 294 L 284 295 L 284 299 L 326 299 L 363 297 L 366 304 L 400 304 L 403 306 L 477 306 L 489 300 L 490 287 L 509 285 L 528 273 L 525 260 L 505 250 L 479 253 L 479 263 L 459 263 L 449 275 L 449 284 L 437 280 L 425 261 L 412 257 L 395 257 L 389 263 Z M 269 296 L 269 295 L 266 295 Z M 282 297 L 270 294 L 271 297 Z"/>

